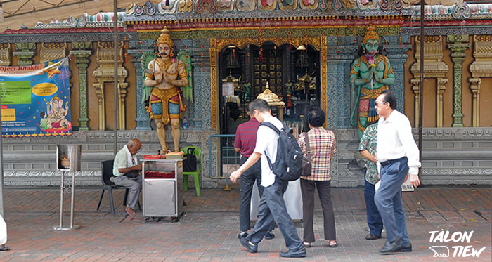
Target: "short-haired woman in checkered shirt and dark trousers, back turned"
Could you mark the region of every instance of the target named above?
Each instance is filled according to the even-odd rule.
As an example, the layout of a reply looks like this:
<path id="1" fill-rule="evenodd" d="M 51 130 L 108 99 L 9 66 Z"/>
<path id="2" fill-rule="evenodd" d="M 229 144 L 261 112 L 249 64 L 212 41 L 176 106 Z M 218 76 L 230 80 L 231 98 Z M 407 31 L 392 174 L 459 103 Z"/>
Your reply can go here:
<path id="1" fill-rule="evenodd" d="M 313 232 L 314 190 L 318 195 L 323 209 L 323 225 L 325 240 L 329 247 L 337 247 L 335 232 L 335 216 L 333 214 L 331 195 L 331 159 L 335 152 L 335 134 L 323 128 L 325 112 L 319 107 L 311 107 L 306 113 L 309 132 L 299 135 L 298 143 L 304 153 L 303 171 L 301 176 L 302 219 L 304 224 L 304 247 L 311 247 L 315 241 Z"/>

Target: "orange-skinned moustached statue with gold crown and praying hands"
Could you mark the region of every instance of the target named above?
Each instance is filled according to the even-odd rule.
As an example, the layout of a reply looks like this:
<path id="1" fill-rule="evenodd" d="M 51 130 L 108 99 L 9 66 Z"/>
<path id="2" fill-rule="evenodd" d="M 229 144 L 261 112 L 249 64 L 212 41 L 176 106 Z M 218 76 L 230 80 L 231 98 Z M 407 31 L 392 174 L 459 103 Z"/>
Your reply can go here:
<path id="1" fill-rule="evenodd" d="M 179 119 L 186 110 L 181 100 L 179 88 L 183 89 L 186 97 L 193 95 L 191 83 L 188 81 L 187 67 L 190 69 L 190 58 L 187 53 L 178 53 L 178 59 L 174 57 L 174 42 L 169 35 L 169 30 L 164 27 L 157 39 L 157 57 L 147 55 L 142 58 L 143 72 L 145 72 L 145 87 L 143 88 L 143 100 L 145 107 L 157 125 L 157 138 L 162 152 L 167 152 L 165 126 L 171 123 L 171 135 L 174 142 L 174 152 L 179 152 Z M 179 60 L 179 57 L 183 60 Z M 147 63 L 148 61 L 148 63 Z"/>

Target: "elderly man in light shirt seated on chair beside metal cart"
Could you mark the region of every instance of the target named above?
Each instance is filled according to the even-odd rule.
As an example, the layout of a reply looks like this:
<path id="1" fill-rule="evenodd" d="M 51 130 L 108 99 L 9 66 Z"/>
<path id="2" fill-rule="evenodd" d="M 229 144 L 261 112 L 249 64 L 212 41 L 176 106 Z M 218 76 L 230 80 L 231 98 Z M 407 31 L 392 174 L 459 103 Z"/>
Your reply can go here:
<path id="1" fill-rule="evenodd" d="M 138 164 L 135 154 L 141 148 L 140 140 L 129 140 L 115 156 L 115 164 L 112 167 L 112 174 L 115 176 L 115 185 L 121 185 L 129 189 L 129 197 L 125 211 L 130 219 L 135 216 L 135 207 L 138 202 L 138 195 L 142 190 L 142 176 L 139 171 L 142 170 L 142 164 Z"/>

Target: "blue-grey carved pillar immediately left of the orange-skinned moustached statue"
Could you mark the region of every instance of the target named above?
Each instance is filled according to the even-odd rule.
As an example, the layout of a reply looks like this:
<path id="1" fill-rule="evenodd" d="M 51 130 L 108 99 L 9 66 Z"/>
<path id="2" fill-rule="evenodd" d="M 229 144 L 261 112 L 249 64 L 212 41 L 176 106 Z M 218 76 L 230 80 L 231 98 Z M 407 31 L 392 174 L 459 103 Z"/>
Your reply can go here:
<path id="1" fill-rule="evenodd" d="M 136 74 L 136 130 L 151 130 L 150 117 L 142 103 L 143 80 L 141 57 L 148 51 L 154 51 L 153 40 L 130 41 L 128 53 L 131 55 L 131 63 L 134 64 Z"/>

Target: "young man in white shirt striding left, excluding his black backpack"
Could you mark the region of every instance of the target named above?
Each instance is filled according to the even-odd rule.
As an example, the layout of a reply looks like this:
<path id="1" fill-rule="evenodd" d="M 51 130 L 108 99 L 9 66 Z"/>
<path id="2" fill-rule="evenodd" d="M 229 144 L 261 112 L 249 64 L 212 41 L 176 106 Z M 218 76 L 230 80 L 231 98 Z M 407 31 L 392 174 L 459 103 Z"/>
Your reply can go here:
<path id="1" fill-rule="evenodd" d="M 277 176 L 273 173 L 273 170 L 278 168 L 278 163 L 283 164 L 283 166 L 288 164 L 285 161 L 280 161 L 280 157 L 277 155 L 279 133 L 284 132 L 282 136 L 285 137 L 285 127 L 280 120 L 271 115 L 270 107 L 265 100 L 254 100 L 251 108 L 252 117 L 261 123 L 258 128 L 256 146 L 246 162 L 238 170 L 231 173 L 230 179 L 235 182 L 245 170 L 249 169 L 258 159 L 261 159 L 261 185 L 264 186 L 264 193 L 258 206 L 258 221 L 254 224 L 251 234 L 247 237 L 241 237 L 240 242 L 242 246 L 247 248 L 248 252 L 257 253 L 258 243 L 263 240 L 268 228 L 275 220 L 285 240 L 285 246 L 289 249 L 287 252 L 280 252 L 280 256 L 287 258 L 304 257 L 306 256 L 306 249 L 302 246 L 302 240 L 297 235 L 283 199 L 288 181 L 280 178 L 278 172 Z M 290 134 L 292 135 L 292 132 Z M 294 143 L 297 144 L 295 139 Z M 298 145 L 297 149 L 300 150 Z M 300 154 L 302 158 L 302 151 Z M 279 155 L 285 155 L 285 152 L 279 153 Z M 300 166 L 299 169 L 301 169 Z M 287 173 L 289 173 L 289 168 L 287 168 Z"/>

